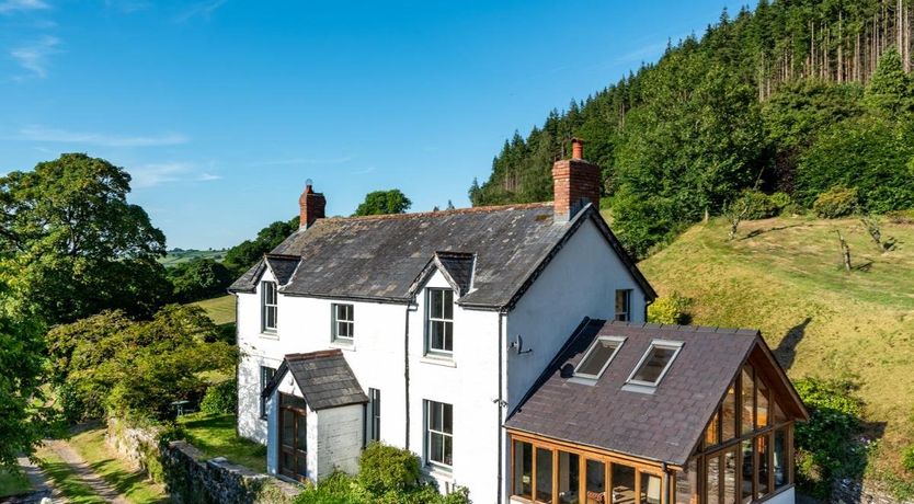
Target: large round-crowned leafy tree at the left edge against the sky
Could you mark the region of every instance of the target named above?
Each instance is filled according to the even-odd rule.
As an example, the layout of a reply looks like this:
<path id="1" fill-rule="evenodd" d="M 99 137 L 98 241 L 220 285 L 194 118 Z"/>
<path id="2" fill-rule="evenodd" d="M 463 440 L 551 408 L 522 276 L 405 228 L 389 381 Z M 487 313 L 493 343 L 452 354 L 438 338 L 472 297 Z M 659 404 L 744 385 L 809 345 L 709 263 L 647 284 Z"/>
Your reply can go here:
<path id="1" fill-rule="evenodd" d="M 82 153 L 0 177 L 0 254 L 48 323 L 167 300 L 165 237 L 129 192 L 127 172 Z"/>

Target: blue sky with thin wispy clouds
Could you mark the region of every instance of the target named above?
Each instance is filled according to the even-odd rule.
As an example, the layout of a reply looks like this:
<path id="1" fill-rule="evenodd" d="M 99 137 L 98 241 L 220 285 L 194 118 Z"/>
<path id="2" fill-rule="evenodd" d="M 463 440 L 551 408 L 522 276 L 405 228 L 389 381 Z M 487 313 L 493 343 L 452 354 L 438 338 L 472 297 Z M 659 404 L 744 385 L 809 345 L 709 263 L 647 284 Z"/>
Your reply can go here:
<path id="1" fill-rule="evenodd" d="M 399 187 L 468 206 L 515 129 L 744 1 L 0 0 L 0 172 L 88 152 L 168 245 Z"/>

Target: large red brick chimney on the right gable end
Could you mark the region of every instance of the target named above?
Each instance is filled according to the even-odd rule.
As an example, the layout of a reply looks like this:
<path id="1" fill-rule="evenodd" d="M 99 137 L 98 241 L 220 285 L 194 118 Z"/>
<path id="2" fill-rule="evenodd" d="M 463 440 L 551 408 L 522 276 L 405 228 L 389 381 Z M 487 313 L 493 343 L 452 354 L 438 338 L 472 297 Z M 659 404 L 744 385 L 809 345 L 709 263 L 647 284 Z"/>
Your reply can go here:
<path id="1" fill-rule="evenodd" d="M 556 220 L 570 220 L 587 203 L 599 208 L 599 167 L 584 160 L 584 141 L 571 139 L 571 159 L 552 164 Z"/>

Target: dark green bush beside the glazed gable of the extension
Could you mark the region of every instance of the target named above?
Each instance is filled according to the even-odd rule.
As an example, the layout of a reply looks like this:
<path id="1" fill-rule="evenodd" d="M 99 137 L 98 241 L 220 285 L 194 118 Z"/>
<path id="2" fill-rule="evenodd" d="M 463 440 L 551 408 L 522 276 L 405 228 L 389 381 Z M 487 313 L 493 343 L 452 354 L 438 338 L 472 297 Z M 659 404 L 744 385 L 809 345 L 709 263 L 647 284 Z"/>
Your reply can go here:
<path id="1" fill-rule="evenodd" d="M 804 378 L 795 386 L 810 411 L 796 427 L 797 483 L 824 499 L 835 480 L 859 478 L 866 468 L 866 447 L 855 439 L 864 404 L 849 380 Z"/>

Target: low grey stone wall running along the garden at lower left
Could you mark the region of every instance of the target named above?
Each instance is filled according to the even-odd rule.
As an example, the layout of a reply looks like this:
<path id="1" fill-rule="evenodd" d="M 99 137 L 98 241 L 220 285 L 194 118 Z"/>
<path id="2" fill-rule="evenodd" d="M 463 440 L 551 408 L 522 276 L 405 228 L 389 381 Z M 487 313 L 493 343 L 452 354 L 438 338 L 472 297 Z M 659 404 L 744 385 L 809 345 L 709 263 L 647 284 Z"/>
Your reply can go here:
<path id="1" fill-rule="evenodd" d="M 112 419 L 105 442 L 134 467 L 146 471 L 152 481 L 164 483 L 171 502 L 290 504 L 301 492 L 298 485 L 231 463 L 222 457 L 207 460 L 186 442 L 160 444 L 161 432 L 159 428 L 127 427 Z"/>

